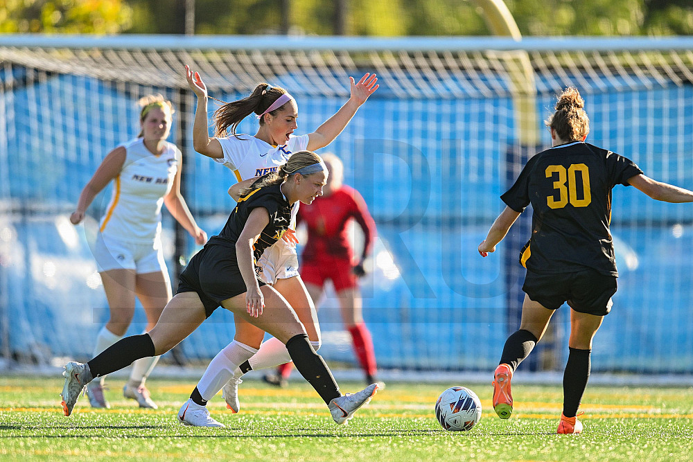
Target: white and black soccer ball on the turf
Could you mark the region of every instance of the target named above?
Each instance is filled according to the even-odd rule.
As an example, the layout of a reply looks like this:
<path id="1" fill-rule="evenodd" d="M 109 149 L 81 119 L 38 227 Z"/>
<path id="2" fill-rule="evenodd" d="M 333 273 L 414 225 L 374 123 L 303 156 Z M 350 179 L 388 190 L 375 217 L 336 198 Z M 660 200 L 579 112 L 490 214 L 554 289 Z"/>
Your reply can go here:
<path id="1" fill-rule="evenodd" d="M 435 416 L 444 429 L 464 432 L 479 422 L 481 402 L 470 389 L 451 387 L 441 393 L 436 401 Z"/>

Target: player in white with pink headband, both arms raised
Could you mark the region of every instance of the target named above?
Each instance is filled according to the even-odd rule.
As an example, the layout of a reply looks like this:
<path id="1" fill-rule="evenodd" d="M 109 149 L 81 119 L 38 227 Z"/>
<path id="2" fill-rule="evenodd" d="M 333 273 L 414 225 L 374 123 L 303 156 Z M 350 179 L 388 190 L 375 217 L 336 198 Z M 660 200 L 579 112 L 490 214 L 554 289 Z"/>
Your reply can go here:
<path id="1" fill-rule="evenodd" d="M 349 78 L 351 97 L 336 114 L 328 118 L 315 132 L 294 136 L 297 129 L 298 105 L 285 89 L 261 83 L 247 97 L 225 103 L 215 112 L 215 135 L 207 132 L 207 87 L 200 74 L 186 66 L 188 85 L 198 97 L 193 125 L 193 146 L 200 154 L 211 157 L 234 171 L 236 179 L 246 184 L 254 177 L 276 172 L 290 155 L 302 150 L 317 150 L 331 143 L 344 130 L 357 109 L 378 89 L 376 75 L 365 74 L 358 82 Z M 250 114 L 258 116 L 259 127 L 254 136 L 236 134 L 240 121 Z M 229 130 L 230 128 L 230 130 Z M 230 132 L 230 136 L 229 136 Z M 291 228 L 295 229 L 297 208 L 292 211 Z M 273 287 L 288 301 L 304 324 L 310 343 L 315 350 L 320 347 L 320 328 L 315 304 L 298 272 L 298 258 L 292 242 L 279 240 L 266 249 L 258 260 L 263 281 Z M 204 405 L 224 388 L 227 407 L 238 412 L 238 384 L 240 377 L 251 369 L 278 366 L 289 359 L 288 351 L 281 341 L 270 339 L 263 343 L 265 332 L 240 317 L 236 321 L 236 343 L 248 348 L 259 348 L 258 352 L 240 367 L 230 366 L 226 350 L 220 351 L 207 367 L 191 399 Z M 195 425 L 194 423 L 192 425 Z M 204 424 L 202 424 L 204 425 Z"/>

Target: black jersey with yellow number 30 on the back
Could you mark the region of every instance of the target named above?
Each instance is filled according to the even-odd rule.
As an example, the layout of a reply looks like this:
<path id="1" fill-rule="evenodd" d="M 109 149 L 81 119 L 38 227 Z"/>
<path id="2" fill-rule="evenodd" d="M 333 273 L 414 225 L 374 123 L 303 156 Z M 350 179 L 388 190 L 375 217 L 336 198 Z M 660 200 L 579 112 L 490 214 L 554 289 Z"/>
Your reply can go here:
<path id="1" fill-rule="evenodd" d="M 500 198 L 516 212 L 531 202 L 532 236 L 520 263 L 536 273 L 593 268 L 617 276 L 611 222 L 611 189 L 629 186 L 642 170 L 611 151 L 576 141 L 529 159 Z"/>

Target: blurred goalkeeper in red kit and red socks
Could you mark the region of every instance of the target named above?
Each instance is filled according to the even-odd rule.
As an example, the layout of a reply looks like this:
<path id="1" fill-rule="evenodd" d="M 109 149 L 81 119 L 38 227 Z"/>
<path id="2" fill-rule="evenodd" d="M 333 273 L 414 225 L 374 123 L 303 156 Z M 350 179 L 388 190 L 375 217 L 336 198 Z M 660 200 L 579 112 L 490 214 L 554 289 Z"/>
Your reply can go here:
<path id="1" fill-rule="evenodd" d="M 362 300 L 358 279 L 365 276 L 365 259 L 373 249 L 376 224 L 357 190 L 342 184 L 344 166 L 334 154 L 322 157 L 330 172 L 324 195 L 310 206 L 302 206 L 298 223 L 308 228 L 308 241 L 301 254 L 301 277 L 306 283 L 310 298 L 317 303 L 326 281 L 332 281 L 344 326 L 347 327 L 356 357 L 366 377 L 366 382 L 378 382 L 376 355 L 369 332 L 362 316 Z M 363 250 L 354 258 L 347 225 L 356 220 L 363 231 Z M 265 382 L 283 387 L 291 373 L 292 364 L 286 363 L 276 374 L 267 374 Z M 380 382 L 382 386 L 382 382 Z"/>

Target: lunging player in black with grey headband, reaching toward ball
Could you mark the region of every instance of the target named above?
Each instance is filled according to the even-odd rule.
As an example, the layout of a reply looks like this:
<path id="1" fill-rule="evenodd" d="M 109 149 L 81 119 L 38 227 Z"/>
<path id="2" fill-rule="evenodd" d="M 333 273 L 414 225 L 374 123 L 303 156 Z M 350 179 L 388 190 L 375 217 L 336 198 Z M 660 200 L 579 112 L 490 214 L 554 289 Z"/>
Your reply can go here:
<path id="1" fill-rule="evenodd" d="M 346 423 L 369 402 L 378 386 L 372 384 L 358 393 L 342 396 L 294 310 L 279 292 L 256 275 L 256 260 L 288 229 L 292 205 L 297 201 L 310 204 L 322 195 L 327 175 L 317 154 L 302 151 L 293 154 L 278 174 L 247 190 L 221 233 L 213 236 L 188 263 L 175 296 L 150 332 L 125 337 L 87 364 L 69 362 L 65 366 L 65 415 L 71 414 L 80 392 L 94 377 L 118 371 L 141 357 L 163 355 L 220 305 L 234 313 L 237 323 L 243 320 L 258 328 L 257 346 L 262 341 L 262 331 L 286 344 L 296 368 L 323 398 L 335 422 Z M 225 351 L 234 367 L 256 353 L 256 348 L 239 341 L 234 340 L 232 345 Z M 196 426 L 223 427 L 209 417 L 204 405 L 195 402 L 195 398 L 201 400 L 199 394 L 195 389 L 180 409 L 179 420 Z"/>

